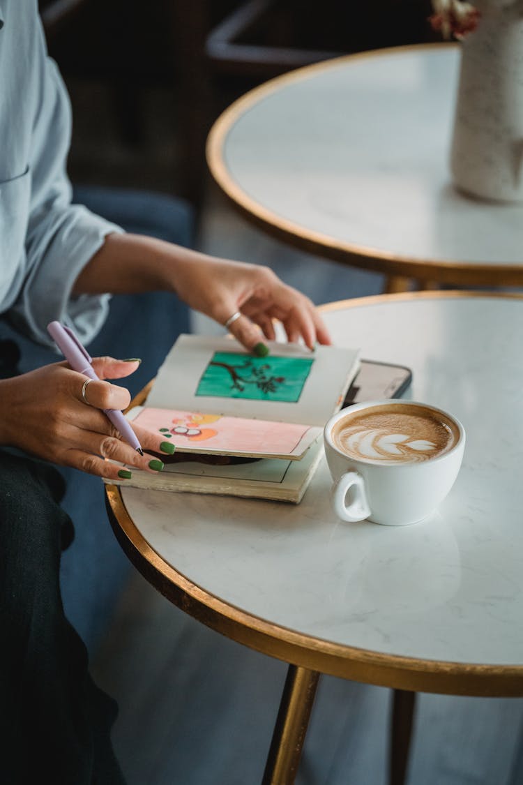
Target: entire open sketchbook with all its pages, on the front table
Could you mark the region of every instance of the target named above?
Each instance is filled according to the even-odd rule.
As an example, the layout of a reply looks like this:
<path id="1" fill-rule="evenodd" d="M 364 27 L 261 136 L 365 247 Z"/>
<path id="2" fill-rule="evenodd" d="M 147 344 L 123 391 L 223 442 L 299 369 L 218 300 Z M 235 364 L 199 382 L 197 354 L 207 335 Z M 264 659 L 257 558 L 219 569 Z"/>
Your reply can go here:
<path id="1" fill-rule="evenodd" d="M 271 342 L 250 355 L 230 338 L 182 335 L 143 407 L 127 415 L 165 435 L 176 462 L 133 469 L 125 485 L 299 502 L 322 450 L 325 422 L 343 403 L 359 352 Z M 181 460 L 183 453 L 187 461 Z M 198 454 L 205 456 L 198 461 Z M 231 456 L 217 466 L 207 456 Z"/>

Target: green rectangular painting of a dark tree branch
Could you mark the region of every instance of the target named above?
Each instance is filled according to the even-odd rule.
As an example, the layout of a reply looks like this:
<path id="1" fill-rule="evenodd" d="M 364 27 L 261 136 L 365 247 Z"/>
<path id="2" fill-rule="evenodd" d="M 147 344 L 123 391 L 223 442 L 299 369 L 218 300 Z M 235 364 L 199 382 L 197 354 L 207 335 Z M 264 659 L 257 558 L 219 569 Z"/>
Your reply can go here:
<path id="1" fill-rule="evenodd" d="M 296 403 L 311 372 L 307 357 L 247 357 L 215 352 L 198 382 L 197 396 Z"/>

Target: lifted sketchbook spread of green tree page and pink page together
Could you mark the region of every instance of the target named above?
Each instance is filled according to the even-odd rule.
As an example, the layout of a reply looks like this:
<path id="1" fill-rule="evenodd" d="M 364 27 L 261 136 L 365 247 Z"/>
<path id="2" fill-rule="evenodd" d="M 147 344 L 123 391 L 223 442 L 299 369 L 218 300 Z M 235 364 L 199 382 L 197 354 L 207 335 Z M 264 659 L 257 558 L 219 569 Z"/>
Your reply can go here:
<path id="1" fill-rule="evenodd" d="M 179 452 L 299 460 L 340 408 L 358 352 L 270 348 L 260 358 L 230 338 L 181 335 L 136 423 Z"/>

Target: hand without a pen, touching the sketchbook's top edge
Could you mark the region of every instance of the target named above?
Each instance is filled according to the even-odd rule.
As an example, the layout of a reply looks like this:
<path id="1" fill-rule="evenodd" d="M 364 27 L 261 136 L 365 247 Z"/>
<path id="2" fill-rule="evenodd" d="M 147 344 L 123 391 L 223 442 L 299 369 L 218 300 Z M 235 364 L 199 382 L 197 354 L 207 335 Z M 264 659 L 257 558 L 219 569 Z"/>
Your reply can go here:
<path id="1" fill-rule="evenodd" d="M 289 287 L 268 267 L 199 255 L 176 272 L 176 291 L 197 311 L 225 325 L 235 312 L 231 333 L 252 350 L 262 334 L 274 341 L 273 319 L 280 321 L 289 341 L 303 338 L 309 349 L 330 337 L 312 301 Z M 261 332 L 260 332 L 261 330 Z"/>

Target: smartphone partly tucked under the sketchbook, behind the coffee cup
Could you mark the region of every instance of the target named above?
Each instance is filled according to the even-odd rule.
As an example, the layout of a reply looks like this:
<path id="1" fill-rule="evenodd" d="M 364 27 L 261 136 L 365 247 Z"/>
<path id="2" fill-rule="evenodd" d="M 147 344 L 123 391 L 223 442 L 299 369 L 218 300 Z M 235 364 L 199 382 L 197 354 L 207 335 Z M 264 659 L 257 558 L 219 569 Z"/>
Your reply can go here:
<path id="1" fill-rule="evenodd" d="M 412 382 L 412 371 L 404 365 L 361 360 L 360 370 L 345 396 L 343 406 L 361 400 L 401 398 Z"/>

